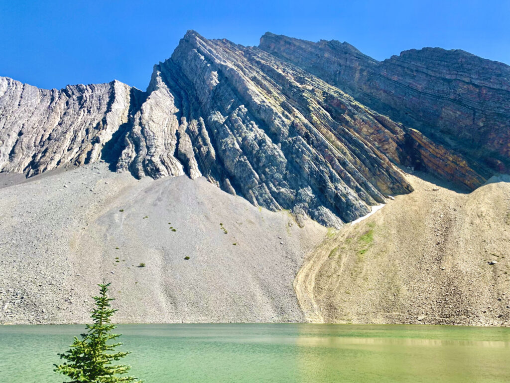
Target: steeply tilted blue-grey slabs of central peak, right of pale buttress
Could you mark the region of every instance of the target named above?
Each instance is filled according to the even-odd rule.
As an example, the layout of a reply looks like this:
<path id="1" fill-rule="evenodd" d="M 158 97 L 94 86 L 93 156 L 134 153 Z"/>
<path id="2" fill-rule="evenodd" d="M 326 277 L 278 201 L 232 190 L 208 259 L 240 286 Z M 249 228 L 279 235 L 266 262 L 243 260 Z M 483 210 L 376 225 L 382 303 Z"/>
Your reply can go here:
<path id="1" fill-rule="evenodd" d="M 171 88 L 181 87 L 186 133 L 195 147 L 212 145 L 210 156 L 199 156 L 199 169 L 226 191 L 337 226 L 334 216 L 352 221 L 385 194 L 411 190 L 384 155 L 320 104 L 325 97 L 345 99 L 345 121 L 375 119 L 271 55 L 188 33 L 156 71 Z M 202 124 L 200 117 L 204 127 L 190 129 Z"/>

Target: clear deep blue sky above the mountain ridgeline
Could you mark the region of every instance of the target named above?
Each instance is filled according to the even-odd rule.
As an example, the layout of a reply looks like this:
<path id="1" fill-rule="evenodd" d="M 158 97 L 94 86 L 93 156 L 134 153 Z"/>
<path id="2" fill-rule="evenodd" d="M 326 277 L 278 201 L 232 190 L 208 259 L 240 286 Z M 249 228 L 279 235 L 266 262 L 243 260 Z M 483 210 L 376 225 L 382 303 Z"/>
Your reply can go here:
<path id="1" fill-rule="evenodd" d="M 146 88 L 188 29 L 258 45 L 270 31 L 347 41 L 383 60 L 424 46 L 510 64 L 510 1 L 0 0 L 0 76 L 43 88 Z"/>

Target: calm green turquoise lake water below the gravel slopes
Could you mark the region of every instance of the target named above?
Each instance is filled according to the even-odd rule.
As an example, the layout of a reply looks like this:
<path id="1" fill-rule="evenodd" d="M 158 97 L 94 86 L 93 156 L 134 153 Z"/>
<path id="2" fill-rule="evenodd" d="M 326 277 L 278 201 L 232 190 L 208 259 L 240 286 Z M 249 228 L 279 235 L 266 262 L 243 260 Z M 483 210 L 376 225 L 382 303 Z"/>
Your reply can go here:
<path id="1" fill-rule="evenodd" d="M 0 382 L 60 383 L 57 352 L 81 325 L 0 326 Z M 510 382 L 510 328 L 120 325 L 124 359 L 147 383 Z"/>

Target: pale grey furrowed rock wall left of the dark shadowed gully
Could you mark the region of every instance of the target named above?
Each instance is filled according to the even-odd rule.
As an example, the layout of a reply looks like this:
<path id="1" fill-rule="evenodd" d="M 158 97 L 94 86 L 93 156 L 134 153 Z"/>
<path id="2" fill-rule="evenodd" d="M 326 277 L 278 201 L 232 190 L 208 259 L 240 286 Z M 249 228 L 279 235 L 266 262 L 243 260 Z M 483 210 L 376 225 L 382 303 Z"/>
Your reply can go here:
<path id="1" fill-rule="evenodd" d="M 127 122 L 133 91 L 118 81 L 46 90 L 0 77 L 0 171 L 33 176 L 97 161 Z"/>

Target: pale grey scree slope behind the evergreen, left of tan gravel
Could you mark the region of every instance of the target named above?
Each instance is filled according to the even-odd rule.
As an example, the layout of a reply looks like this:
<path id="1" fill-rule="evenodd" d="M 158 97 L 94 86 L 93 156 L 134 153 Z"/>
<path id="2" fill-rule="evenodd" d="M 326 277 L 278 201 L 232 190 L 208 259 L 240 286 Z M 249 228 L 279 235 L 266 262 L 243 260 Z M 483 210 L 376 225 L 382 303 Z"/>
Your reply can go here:
<path id="1" fill-rule="evenodd" d="M 104 163 L 0 178 L 0 323 L 86 322 L 103 278 L 118 322 L 304 319 L 292 282 L 325 234 L 311 220 Z"/>

